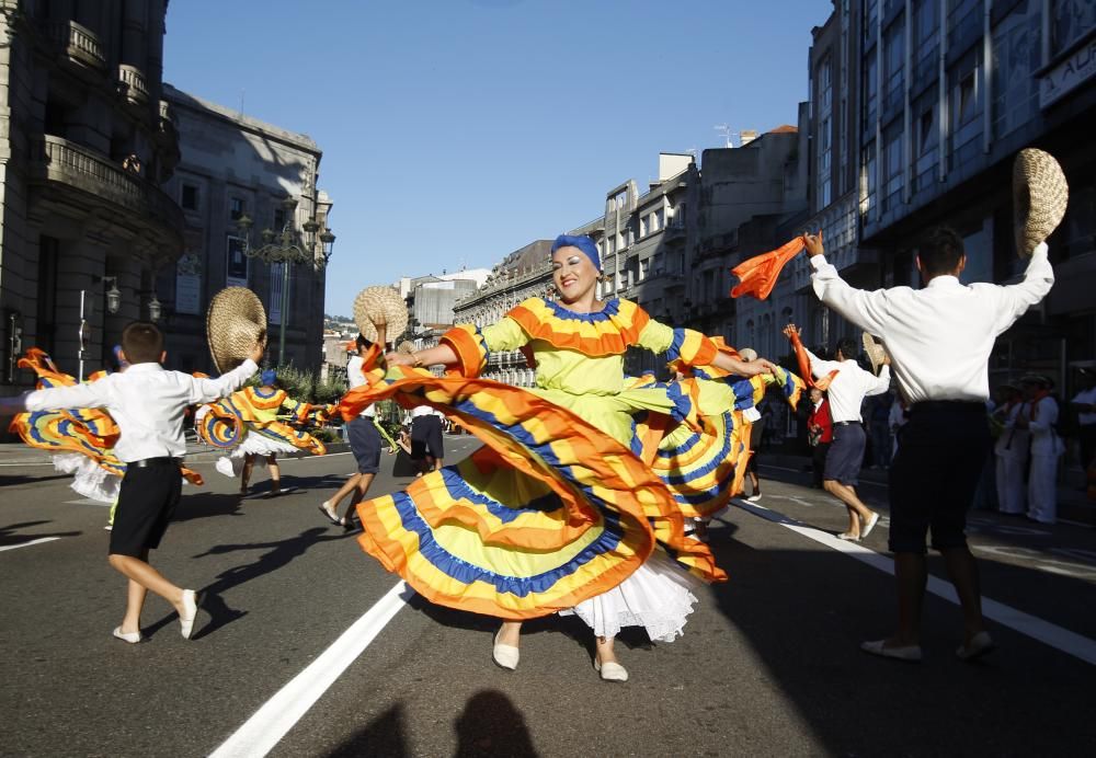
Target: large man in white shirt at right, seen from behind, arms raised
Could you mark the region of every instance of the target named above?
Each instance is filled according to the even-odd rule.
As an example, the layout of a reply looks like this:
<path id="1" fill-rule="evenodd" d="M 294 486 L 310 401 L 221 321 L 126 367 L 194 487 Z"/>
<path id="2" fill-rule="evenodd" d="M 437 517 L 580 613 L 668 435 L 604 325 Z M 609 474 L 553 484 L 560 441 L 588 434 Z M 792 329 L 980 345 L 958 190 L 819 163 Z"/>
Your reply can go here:
<path id="1" fill-rule="evenodd" d="M 936 229 L 917 252 L 922 289 L 865 291 L 842 280 L 826 262 L 821 236 L 807 234 L 804 241 L 814 292 L 848 321 L 882 337 L 899 390 L 910 403 L 910 420 L 890 471 L 898 630 L 861 647 L 886 657 L 921 659 L 921 606 L 928 577 L 925 536 L 932 528 L 933 547 L 944 555 L 962 606 L 963 644 L 957 655 L 978 657 L 993 648 L 993 641 L 985 631 L 978 566 L 963 530 L 990 449 L 986 365 L 997 335 L 1054 284 L 1047 245 L 1035 249 L 1019 284 L 962 285 L 962 239 L 950 229 Z"/>

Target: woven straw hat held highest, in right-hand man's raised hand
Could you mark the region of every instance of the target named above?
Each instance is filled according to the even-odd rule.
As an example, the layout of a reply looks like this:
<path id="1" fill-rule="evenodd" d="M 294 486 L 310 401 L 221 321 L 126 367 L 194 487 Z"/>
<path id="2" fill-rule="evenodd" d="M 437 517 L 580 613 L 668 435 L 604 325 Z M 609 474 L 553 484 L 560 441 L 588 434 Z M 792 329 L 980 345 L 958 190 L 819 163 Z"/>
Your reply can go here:
<path id="1" fill-rule="evenodd" d="M 1024 148 L 1016 154 L 1013 215 L 1020 255 L 1030 255 L 1058 228 L 1069 199 L 1070 185 L 1053 156 L 1036 148 Z"/>

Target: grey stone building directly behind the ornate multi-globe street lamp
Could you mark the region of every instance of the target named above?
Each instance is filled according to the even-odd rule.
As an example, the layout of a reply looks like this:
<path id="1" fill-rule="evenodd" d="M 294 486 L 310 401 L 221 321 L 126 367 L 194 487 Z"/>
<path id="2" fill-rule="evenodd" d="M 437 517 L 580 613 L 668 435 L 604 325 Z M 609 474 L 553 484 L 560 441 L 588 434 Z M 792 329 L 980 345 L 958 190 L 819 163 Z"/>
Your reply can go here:
<path id="1" fill-rule="evenodd" d="M 164 84 L 179 131 L 182 160 L 167 191 L 185 219 L 183 253 L 159 277 L 173 365 L 210 371 L 205 312 L 229 286 L 250 287 L 266 308 L 267 356 L 277 361 L 285 330 L 286 365 L 318 367 L 323 349 L 326 255 L 321 234 L 331 200 L 317 188 L 320 148 L 309 137 L 263 123 Z M 251 229 L 240 220 L 251 221 Z M 270 241 L 263 230 L 299 236 L 312 263 L 264 263 L 251 249 Z M 306 230 L 312 230 L 307 233 Z M 330 232 L 328 232 L 330 233 Z M 274 238 L 277 242 L 277 238 Z M 284 288 L 288 286 L 288 290 Z M 288 312 L 283 315 L 282 303 Z"/>

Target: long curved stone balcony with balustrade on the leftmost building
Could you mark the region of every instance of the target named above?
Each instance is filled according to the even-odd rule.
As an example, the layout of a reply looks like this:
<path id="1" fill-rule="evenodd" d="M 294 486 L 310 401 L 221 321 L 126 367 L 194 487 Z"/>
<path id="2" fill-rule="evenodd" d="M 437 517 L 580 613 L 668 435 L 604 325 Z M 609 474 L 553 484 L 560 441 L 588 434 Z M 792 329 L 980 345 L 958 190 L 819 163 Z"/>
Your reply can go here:
<path id="1" fill-rule="evenodd" d="M 183 211 L 175 202 L 104 156 L 46 135 L 32 142 L 30 164 L 33 180 L 75 191 L 73 200 L 79 207 L 90 209 L 105 203 L 135 220 L 165 227 L 174 236 L 182 234 Z"/>

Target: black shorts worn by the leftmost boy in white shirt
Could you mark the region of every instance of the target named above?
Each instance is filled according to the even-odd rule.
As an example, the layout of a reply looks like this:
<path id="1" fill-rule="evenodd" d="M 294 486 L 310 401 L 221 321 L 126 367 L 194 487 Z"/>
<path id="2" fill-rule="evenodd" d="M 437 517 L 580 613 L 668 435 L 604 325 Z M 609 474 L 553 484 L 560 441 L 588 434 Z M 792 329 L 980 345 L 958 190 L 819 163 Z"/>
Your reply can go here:
<path id="1" fill-rule="evenodd" d="M 159 548 L 182 489 L 179 463 L 170 458 L 155 459 L 145 467 L 128 464 L 114 512 L 110 553 L 141 558 L 146 550 Z"/>

